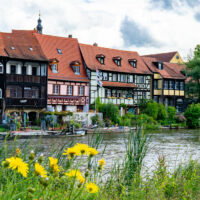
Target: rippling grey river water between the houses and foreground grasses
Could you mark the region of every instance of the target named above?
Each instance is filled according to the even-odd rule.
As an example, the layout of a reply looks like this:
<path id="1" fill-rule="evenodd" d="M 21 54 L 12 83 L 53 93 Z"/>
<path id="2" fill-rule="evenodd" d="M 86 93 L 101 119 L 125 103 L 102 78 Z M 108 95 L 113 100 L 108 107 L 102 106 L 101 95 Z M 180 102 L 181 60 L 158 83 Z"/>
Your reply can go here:
<path id="1" fill-rule="evenodd" d="M 125 153 L 124 133 L 102 134 L 103 143 L 100 145 L 99 158 L 104 157 L 106 168 L 109 170 L 115 161 L 122 161 Z M 168 170 L 175 169 L 180 163 L 187 163 L 190 159 L 200 161 L 200 130 L 162 130 L 148 133 L 150 137 L 149 148 L 143 162 L 143 172 L 151 173 L 155 169 L 159 156 L 165 156 Z M 48 153 L 52 150 L 59 150 L 63 146 L 68 146 L 72 141 L 88 143 L 91 135 L 82 137 L 65 138 L 40 138 L 40 139 L 19 139 L 17 145 L 20 147 L 25 142 L 30 142 L 32 147 L 40 146 L 40 152 Z M 12 147 L 13 141 L 8 141 L 8 146 Z M 2 145 L 2 141 L 0 141 Z"/>

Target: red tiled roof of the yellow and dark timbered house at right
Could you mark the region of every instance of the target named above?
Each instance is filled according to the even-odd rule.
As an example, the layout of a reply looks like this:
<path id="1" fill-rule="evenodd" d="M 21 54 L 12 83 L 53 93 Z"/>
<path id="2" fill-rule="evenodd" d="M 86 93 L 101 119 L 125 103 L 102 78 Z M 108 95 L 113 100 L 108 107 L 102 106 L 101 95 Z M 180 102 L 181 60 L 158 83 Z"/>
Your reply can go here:
<path id="1" fill-rule="evenodd" d="M 153 73 L 159 73 L 163 78 L 168 78 L 168 79 L 185 79 L 186 78 L 181 73 L 181 70 L 185 68 L 185 65 L 163 62 L 163 69 L 159 70 L 154 64 L 155 62 L 159 62 L 157 59 L 149 58 L 145 56 L 142 56 L 142 59 L 144 60 L 146 65 L 149 67 L 149 69 Z"/>

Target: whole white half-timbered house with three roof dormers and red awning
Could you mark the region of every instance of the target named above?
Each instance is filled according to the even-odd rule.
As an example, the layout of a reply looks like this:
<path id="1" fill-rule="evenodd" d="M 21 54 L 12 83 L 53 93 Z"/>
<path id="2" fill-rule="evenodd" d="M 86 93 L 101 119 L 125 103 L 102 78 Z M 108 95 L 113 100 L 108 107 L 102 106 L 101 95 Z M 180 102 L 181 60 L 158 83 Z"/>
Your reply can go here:
<path id="1" fill-rule="evenodd" d="M 151 98 L 151 75 L 137 52 L 80 44 L 90 79 L 90 103 L 125 103 L 133 109 L 140 99 Z M 102 87 L 101 87 L 102 84 Z"/>

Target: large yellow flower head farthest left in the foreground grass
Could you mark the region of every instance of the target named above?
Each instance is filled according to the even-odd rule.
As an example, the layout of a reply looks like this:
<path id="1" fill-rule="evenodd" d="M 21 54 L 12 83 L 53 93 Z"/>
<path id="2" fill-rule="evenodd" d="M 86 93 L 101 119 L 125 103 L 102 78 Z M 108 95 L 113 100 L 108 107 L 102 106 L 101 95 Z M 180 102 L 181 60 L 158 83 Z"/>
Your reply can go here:
<path id="1" fill-rule="evenodd" d="M 11 157 L 7 158 L 6 161 L 9 163 L 9 168 L 12 170 L 17 170 L 18 173 L 22 174 L 22 176 L 27 177 L 28 174 L 28 164 L 23 162 L 21 158 Z"/>

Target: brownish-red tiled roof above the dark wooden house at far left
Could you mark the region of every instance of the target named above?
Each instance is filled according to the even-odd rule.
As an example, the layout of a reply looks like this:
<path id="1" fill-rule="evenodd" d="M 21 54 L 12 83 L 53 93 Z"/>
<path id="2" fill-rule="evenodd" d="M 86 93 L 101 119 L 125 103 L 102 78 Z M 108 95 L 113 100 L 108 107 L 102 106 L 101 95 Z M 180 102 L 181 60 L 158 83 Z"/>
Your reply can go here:
<path id="1" fill-rule="evenodd" d="M 0 56 L 48 61 L 34 36 L 34 32 L 36 31 L 13 30 L 12 33 L 0 32 Z"/>

